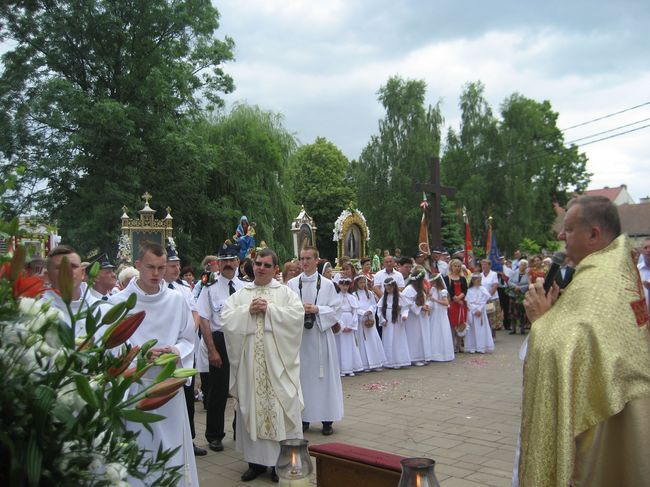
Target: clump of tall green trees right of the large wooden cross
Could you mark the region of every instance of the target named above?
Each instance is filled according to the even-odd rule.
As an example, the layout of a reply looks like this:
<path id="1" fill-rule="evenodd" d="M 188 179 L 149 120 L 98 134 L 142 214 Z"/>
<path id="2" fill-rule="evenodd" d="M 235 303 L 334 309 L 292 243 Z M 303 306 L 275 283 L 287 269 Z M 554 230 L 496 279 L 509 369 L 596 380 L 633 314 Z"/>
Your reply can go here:
<path id="1" fill-rule="evenodd" d="M 477 242 L 485 242 L 489 216 L 503 251 L 514 250 L 524 237 L 546 242 L 553 203 L 566 204 L 571 191 L 589 182 L 586 156 L 564 145 L 548 101 L 514 94 L 498 120 L 483 91 L 480 82 L 470 83 L 461 95 L 461 127 L 448 132 L 443 180 L 457 188 L 454 201 L 467 208 Z"/>

